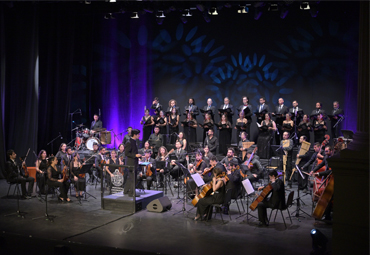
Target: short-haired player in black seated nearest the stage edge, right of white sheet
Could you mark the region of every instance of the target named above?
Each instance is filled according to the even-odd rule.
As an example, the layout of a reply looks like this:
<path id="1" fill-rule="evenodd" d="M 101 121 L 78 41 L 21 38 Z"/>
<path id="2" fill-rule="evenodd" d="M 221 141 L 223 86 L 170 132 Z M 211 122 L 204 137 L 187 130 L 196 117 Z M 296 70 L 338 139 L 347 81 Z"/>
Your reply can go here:
<path id="1" fill-rule="evenodd" d="M 278 178 L 278 173 L 276 170 L 273 170 L 269 173 L 269 178 L 272 186 L 271 197 L 265 198 L 262 202 L 258 203 L 257 206 L 260 226 L 268 226 L 267 208 L 282 209 L 285 207 L 284 182 Z M 258 187 L 258 190 L 262 190 L 265 187 Z"/>

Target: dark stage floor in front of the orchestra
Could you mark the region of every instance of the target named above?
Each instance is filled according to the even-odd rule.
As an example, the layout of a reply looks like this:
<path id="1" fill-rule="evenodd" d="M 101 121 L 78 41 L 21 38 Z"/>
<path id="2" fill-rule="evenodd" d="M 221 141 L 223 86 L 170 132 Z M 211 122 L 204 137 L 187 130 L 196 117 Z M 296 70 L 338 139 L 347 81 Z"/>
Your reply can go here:
<path id="1" fill-rule="evenodd" d="M 331 251 L 332 226 L 312 218 L 298 221 L 292 217 L 293 224 L 288 218 L 285 229 L 278 214 L 276 222 L 261 228 L 256 219 L 236 219 L 239 213 L 232 204 L 232 220 L 224 215 L 226 224 L 219 215 L 209 222 L 193 221 L 196 210 L 188 212 L 193 208 L 190 201 L 185 213 L 174 215 L 183 207 L 176 199 L 177 189 L 173 189 L 175 196 L 167 194 L 172 201 L 170 211 L 154 213 L 143 208 L 135 214 L 124 214 L 101 209 L 100 189 L 90 185 L 87 189 L 97 199 L 90 197 L 80 204 L 74 196 L 70 196 L 73 203 L 59 203 L 50 197 L 48 212 L 57 216 L 50 222 L 44 218 L 45 203 L 37 198 L 20 200 L 20 210 L 27 213 L 24 219 L 4 217 L 17 210 L 17 200 L 12 195 L 6 197 L 8 184 L 0 180 L 0 254 L 53 254 L 56 245 L 72 250 L 66 254 L 309 254 L 312 228 L 329 239 Z M 296 191 L 296 184 L 293 189 Z M 302 200 L 306 204 L 302 209 L 310 214 L 311 197 Z M 290 212 L 295 209 L 293 205 Z M 257 216 L 257 211 L 252 214 Z M 36 217 L 41 218 L 33 220 Z"/>

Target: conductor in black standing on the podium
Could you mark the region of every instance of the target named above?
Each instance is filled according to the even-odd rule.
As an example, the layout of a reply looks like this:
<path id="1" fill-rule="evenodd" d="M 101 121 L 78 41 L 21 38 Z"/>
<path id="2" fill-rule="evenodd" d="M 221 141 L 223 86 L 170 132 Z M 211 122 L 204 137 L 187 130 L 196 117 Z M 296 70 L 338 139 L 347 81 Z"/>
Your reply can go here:
<path id="1" fill-rule="evenodd" d="M 141 157 L 137 148 L 136 140 L 140 137 L 140 130 L 133 129 L 131 131 L 130 141 L 125 144 L 126 164 L 131 166 L 129 168 L 127 182 L 124 187 L 124 194 L 128 194 L 129 197 L 134 196 L 135 184 L 136 184 L 136 171 L 138 169 L 138 158 Z M 136 195 L 139 197 L 140 195 Z"/>

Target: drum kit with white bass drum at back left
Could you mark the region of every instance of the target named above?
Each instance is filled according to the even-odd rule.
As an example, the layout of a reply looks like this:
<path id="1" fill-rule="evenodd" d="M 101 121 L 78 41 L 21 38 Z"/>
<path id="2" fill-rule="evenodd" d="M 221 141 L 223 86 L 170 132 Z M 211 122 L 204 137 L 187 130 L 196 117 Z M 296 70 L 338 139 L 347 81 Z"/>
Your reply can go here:
<path id="1" fill-rule="evenodd" d="M 94 143 L 97 143 L 99 146 L 101 144 L 110 144 L 111 133 L 106 130 L 106 128 L 90 130 L 88 128 L 85 128 L 83 124 L 78 125 L 75 140 L 76 150 L 83 150 L 86 148 L 92 151 L 94 150 Z"/>

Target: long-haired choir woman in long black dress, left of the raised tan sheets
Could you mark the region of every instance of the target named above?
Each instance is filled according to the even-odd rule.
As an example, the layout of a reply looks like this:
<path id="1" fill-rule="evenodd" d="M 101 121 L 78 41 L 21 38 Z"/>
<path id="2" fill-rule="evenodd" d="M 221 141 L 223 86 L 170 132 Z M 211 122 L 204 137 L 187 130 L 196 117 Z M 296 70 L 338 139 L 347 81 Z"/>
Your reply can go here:
<path id="1" fill-rule="evenodd" d="M 276 131 L 276 124 L 271 119 L 269 113 L 265 114 L 264 120 L 261 122 L 260 133 L 257 139 L 258 156 L 262 159 L 270 158 L 270 145 L 273 134 Z"/>

